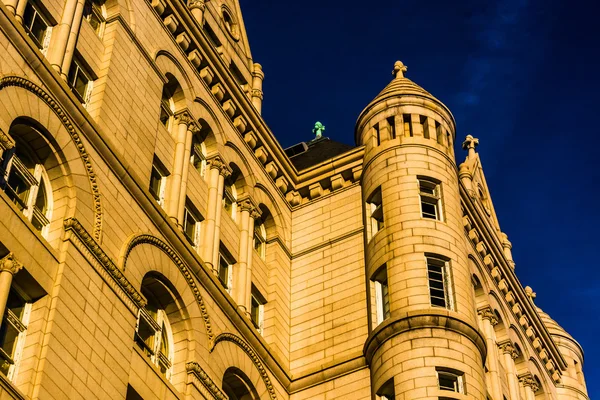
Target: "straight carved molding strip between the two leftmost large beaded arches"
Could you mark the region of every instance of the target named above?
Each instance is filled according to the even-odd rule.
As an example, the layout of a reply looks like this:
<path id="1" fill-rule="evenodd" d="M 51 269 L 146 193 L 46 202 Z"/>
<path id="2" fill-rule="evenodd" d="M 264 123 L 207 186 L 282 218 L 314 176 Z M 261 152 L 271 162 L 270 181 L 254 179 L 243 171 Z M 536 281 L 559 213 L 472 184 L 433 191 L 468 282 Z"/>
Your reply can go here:
<path id="1" fill-rule="evenodd" d="M 146 300 L 144 297 L 136 290 L 135 287 L 129 282 L 129 280 L 123 275 L 123 272 L 117 267 L 117 265 L 110 259 L 110 257 L 102 250 L 100 245 L 94 240 L 94 238 L 85 230 L 83 225 L 75 219 L 75 218 L 67 218 L 64 221 L 65 233 L 72 232 L 79 242 L 83 245 L 83 248 L 80 250 L 87 250 L 90 253 L 91 258 L 93 258 L 99 266 L 101 266 L 101 270 L 97 268 L 95 263 L 92 263 L 96 268 L 96 271 L 100 273 L 100 275 L 104 278 L 104 280 L 109 283 L 112 282 L 114 285 L 110 285 L 113 289 L 119 288 L 122 292 L 124 292 L 132 303 L 133 307 L 143 308 L 146 306 Z M 67 238 L 68 239 L 68 238 Z M 90 257 L 88 257 L 89 259 Z M 104 273 L 102 273 L 104 272 Z M 130 306 L 130 309 L 132 307 Z M 133 310 L 134 313 L 137 313 L 137 310 Z"/>

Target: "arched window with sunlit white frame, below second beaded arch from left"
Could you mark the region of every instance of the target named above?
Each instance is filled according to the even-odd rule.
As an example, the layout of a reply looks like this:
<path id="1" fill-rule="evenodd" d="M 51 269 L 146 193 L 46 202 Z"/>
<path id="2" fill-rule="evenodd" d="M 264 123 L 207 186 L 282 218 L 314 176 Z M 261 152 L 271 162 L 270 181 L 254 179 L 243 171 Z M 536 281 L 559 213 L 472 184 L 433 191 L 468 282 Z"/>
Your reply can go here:
<path id="1" fill-rule="evenodd" d="M 174 349 L 169 312 L 176 307 L 169 288 L 156 277 L 147 275 L 142 281 L 142 294 L 148 300 L 141 308 L 135 332 L 135 342 L 164 374 L 171 377 Z"/>

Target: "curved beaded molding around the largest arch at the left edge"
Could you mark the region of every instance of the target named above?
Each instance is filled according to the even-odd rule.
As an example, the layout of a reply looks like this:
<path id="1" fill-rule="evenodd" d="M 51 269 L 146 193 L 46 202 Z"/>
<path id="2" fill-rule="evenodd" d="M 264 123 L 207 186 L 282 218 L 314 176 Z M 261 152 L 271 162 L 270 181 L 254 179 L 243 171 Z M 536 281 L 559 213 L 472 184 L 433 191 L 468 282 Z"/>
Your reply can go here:
<path id="1" fill-rule="evenodd" d="M 92 198 L 94 200 L 93 235 L 94 239 L 100 240 L 100 235 L 102 233 L 102 204 L 100 201 L 100 190 L 98 188 L 98 180 L 96 178 L 96 173 L 94 172 L 94 168 L 92 167 L 91 158 L 88 152 L 85 150 L 85 146 L 83 144 L 83 141 L 81 140 L 81 136 L 75 131 L 75 127 L 71 123 L 71 120 L 67 116 L 67 113 L 58 105 L 58 102 L 56 100 L 54 100 L 48 93 L 44 91 L 44 89 L 42 89 L 35 83 L 29 81 L 28 79 L 21 78 L 19 76 L 5 76 L 0 79 L 0 90 L 10 86 L 23 88 L 42 99 L 52 109 L 52 111 L 54 111 L 54 113 L 62 122 L 63 126 L 67 129 L 67 132 L 69 132 L 71 140 L 73 141 L 73 143 L 77 147 L 77 150 L 79 151 L 79 156 L 83 161 L 85 170 L 88 175 L 88 180 L 90 181 Z"/>

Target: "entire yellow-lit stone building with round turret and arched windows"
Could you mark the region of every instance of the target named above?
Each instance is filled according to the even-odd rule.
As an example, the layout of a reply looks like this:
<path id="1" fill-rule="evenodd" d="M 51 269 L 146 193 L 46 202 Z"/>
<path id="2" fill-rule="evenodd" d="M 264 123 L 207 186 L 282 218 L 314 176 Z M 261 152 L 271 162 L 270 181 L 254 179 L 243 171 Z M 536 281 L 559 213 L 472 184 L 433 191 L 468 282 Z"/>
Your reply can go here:
<path id="1" fill-rule="evenodd" d="M 0 35 L 0 399 L 588 399 L 402 63 L 355 147 L 284 150 L 236 0 L 0 0 Z"/>

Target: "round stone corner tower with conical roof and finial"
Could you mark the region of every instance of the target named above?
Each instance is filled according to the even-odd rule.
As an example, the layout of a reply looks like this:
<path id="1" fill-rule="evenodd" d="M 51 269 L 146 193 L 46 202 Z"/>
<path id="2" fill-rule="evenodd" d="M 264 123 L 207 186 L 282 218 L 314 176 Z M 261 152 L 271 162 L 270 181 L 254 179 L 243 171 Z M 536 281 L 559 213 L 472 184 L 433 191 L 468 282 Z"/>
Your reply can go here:
<path id="1" fill-rule="evenodd" d="M 462 224 L 455 121 L 406 70 L 396 62 L 394 79 L 355 131 L 365 146 L 371 387 L 382 398 L 483 400 L 486 348 Z"/>

